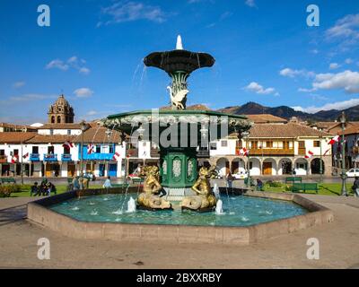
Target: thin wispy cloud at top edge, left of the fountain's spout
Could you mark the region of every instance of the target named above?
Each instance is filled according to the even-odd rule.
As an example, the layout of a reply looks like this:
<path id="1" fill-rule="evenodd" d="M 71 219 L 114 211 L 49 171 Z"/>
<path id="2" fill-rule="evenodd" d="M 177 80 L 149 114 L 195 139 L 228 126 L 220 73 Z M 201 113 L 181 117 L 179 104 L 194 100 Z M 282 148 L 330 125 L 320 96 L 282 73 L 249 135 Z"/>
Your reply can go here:
<path id="1" fill-rule="evenodd" d="M 161 23 L 165 22 L 168 17 L 159 6 L 152 6 L 134 1 L 119 1 L 109 7 L 102 8 L 101 13 L 111 17 L 106 24 L 137 20 L 148 20 Z"/>

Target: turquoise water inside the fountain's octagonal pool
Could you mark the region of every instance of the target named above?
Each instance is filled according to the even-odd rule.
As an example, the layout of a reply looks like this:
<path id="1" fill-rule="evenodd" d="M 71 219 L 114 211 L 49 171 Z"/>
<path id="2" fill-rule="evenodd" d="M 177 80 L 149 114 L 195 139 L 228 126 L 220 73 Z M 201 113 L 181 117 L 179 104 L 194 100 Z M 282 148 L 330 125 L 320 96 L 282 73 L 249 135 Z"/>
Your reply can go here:
<path id="1" fill-rule="evenodd" d="M 144 224 L 249 226 L 307 213 L 292 202 L 250 196 L 222 196 L 223 214 L 137 210 L 127 213 L 127 201 L 135 195 L 104 195 L 70 199 L 50 209 L 83 222 L 123 222 Z"/>

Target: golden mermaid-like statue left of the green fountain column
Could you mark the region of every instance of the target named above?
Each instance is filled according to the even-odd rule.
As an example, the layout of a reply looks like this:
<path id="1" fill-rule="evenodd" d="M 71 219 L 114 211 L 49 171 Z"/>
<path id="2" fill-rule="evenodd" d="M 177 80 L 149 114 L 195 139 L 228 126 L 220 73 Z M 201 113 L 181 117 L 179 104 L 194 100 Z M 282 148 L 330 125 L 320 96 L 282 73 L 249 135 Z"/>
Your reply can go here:
<path id="1" fill-rule="evenodd" d="M 137 204 L 148 209 L 170 209 L 171 203 L 158 196 L 162 190 L 157 166 L 145 166 L 141 172 L 144 176 L 144 192 L 137 197 Z"/>

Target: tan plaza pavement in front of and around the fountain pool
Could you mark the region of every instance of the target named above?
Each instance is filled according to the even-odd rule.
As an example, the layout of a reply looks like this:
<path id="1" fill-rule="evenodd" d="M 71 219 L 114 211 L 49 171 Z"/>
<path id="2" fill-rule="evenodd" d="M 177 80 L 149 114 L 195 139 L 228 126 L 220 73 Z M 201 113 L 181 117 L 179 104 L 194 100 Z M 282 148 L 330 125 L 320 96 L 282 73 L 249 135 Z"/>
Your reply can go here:
<path id="1" fill-rule="evenodd" d="M 306 197 L 334 212 L 335 221 L 249 246 L 138 243 L 71 239 L 25 219 L 31 197 L 0 199 L 0 268 L 357 268 L 359 199 Z M 37 258 L 39 238 L 51 258 Z M 320 260 L 306 257 L 307 239 L 320 240 Z"/>

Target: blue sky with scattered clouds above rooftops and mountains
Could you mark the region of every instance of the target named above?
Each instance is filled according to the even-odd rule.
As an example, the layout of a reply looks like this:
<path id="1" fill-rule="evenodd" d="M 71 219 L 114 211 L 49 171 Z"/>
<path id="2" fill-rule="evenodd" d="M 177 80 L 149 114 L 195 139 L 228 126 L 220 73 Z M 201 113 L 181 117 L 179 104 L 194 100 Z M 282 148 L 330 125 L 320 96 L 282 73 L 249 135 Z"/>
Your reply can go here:
<path id="1" fill-rule="evenodd" d="M 37 24 L 39 4 L 49 27 Z M 307 26 L 309 4 L 319 27 Z M 170 78 L 142 59 L 175 48 L 178 34 L 216 59 L 189 77 L 188 104 L 359 104 L 357 0 L 2 0 L 0 121 L 44 122 L 62 91 L 76 120 L 167 105 Z"/>

